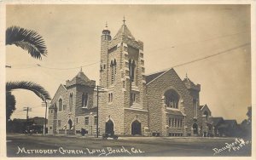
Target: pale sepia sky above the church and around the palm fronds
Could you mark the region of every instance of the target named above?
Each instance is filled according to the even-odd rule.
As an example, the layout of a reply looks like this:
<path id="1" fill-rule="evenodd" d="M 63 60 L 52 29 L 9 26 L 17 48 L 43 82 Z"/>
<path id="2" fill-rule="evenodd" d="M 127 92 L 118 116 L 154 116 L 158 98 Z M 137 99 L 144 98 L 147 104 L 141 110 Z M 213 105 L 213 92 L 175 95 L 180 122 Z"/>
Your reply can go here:
<path id="1" fill-rule="evenodd" d="M 102 30 L 108 21 L 112 37 L 123 24 L 144 43 L 146 73 L 173 66 L 181 79 L 201 84 L 201 105 L 214 117 L 247 118 L 251 106 L 251 22 L 249 5 L 7 5 L 6 27 L 37 31 L 48 54 L 35 60 L 15 45 L 6 46 L 6 81 L 32 81 L 54 96 L 80 71 L 99 80 Z M 223 54 L 218 54 L 223 53 Z M 212 54 L 216 56 L 204 57 Z M 187 65 L 180 64 L 193 61 Z M 40 66 L 38 66 L 39 64 Z M 73 68 L 73 69 L 70 69 Z M 44 117 L 35 94 L 13 92 L 17 101 L 12 118 Z"/>

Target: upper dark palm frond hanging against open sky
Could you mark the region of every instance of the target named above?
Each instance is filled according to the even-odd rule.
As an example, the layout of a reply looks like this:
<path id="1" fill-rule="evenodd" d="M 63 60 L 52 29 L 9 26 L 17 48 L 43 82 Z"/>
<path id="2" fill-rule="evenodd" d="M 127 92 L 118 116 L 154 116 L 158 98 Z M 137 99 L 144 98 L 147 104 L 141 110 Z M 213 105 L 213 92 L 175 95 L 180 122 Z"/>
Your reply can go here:
<path id="1" fill-rule="evenodd" d="M 6 30 L 6 45 L 15 44 L 25 49 L 35 59 L 42 59 L 42 55 L 47 55 L 44 39 L 36 31 L 20 28 L 19 26 L 10 26 Z"/>

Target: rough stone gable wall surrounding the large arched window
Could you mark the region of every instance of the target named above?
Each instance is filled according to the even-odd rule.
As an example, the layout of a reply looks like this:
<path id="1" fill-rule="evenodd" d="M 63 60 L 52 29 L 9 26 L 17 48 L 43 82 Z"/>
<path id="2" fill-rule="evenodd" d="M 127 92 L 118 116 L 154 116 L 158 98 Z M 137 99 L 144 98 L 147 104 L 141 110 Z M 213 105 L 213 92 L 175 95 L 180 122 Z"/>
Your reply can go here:
<path id="1" fill-rule="evenodd" d="M 160 118 L 165 115 L 164 94 L 166 90 L 174 89 L 180 96 L 179 110 L 185 115 L 184 118 L 184 135 L 191 134 L 193 122 L 192 97 L 186 89 L 180 77 L 173 69 L 166 71 L 162 76 L 154 79 L 147 84 L 148 109 L 149 109 L 149 129 L 151 132 L 160 131 L 160 135 L 166 136 L 166 118 Z"/>

